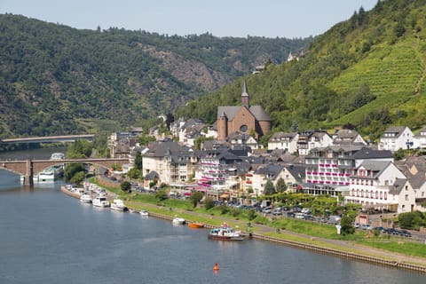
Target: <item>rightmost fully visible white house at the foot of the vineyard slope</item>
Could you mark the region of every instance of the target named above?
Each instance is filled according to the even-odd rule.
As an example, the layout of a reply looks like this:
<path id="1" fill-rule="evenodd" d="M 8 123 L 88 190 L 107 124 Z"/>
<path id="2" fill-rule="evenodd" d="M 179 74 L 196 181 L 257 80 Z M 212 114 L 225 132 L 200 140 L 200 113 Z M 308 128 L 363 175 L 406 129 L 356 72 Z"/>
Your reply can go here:
<path id="1" fill-rule="evenodd" d="M 414 134 L 406 126 L 390 126 L 383 132 L 379 142 L 379 150 L 390 150 L 413 148 Z"/>

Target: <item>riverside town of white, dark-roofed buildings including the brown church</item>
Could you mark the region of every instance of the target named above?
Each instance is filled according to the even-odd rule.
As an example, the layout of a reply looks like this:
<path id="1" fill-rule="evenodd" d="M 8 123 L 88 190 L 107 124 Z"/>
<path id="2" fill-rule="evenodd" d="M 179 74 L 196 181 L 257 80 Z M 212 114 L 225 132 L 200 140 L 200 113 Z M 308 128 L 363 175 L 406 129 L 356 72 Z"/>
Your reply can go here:
<path id="1" fill-rule="evenodd" d="M 426 148 L 426 128 L 414 135 L 406 126 L 390 126 L 376 145 L 356 130 L 276 132 L 265 149 L 258 138 L 271 131 L 271 121 L 262 106 L 250 106 L 244 82 L 241 106 L 219 106 L 213 125 L 179 119 L 170 124 L 170 137 L 151 129 L 156 141 L 148 146 L 138 144 L 140 129 L 114 132 L 110 152 L 130 158 L 123 172 L 141 155 L 144 190 L 168 185 L 170 194 L 199 191 L 215 201 L 251 204 L 271 194 L 272 183 L 272 193 L 334 196 L 367 213 L 426 211 L 426 161 L 414 154 Z M 199 150 L 197 138 L 206 138 Z M 413 154 L 396 159 L 401 150 Z M 366 214 L 357 221 L 367 225 L 375 219 Z"/>

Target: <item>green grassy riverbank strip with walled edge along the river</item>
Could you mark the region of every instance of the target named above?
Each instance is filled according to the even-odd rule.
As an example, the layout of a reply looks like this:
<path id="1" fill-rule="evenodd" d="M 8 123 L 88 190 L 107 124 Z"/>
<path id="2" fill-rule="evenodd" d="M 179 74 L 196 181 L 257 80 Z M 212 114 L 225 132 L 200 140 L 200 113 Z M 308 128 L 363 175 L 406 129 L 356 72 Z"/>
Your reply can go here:
<path id="1" fill-rule="evenodd" d="M 426 258 L 396 254 L 378 248 L 361 246 L 350 241 L 312 237 L 301 233 L 289 232 L 285 229 L 277 230 L 266 225 L 250 224 L 248 228 L 247 221 L 206 215 L 191 210 L 164 207 L 141 201 L 128 200 L 125 204 L 129 209 L 136 212 L 140 209 L 147 209 L 152 217 L 159 217 L 170 221 L 174 217 L 184 217 L 187 221 L 199 222 L 206 227 L 215 227 L 226 222 L 233 227 L 250 230 L 253 239 L 258 241 L 272 241 L 280 245 L 309 249 L 316 253 L 426 273 Z"/>

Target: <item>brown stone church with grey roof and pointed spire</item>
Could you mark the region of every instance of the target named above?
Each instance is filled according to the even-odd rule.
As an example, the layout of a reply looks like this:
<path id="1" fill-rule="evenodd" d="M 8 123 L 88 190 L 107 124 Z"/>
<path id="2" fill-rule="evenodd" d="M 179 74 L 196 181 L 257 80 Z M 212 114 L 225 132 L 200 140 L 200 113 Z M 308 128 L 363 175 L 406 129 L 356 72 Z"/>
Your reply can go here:
<path id="1" fill-rule="evenodd" d="M 255 134 L 261 138 L 271 130 L 272 119 L 262 106 L 250 106 L 247 83 L 244 80 L 241 106 L 217 107 L 217 139 L 224 141 L 232 133 Z"/>

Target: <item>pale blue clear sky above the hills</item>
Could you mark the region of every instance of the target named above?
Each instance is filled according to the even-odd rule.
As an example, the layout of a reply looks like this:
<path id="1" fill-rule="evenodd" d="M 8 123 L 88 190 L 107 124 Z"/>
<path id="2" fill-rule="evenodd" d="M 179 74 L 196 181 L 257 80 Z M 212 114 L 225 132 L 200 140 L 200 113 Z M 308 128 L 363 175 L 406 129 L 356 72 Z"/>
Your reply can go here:
<path id="1" fill-rule="evenodd" d="M 0 13 L 161 35 L 318 36 L 378 0 L 0 0 Z"/>

